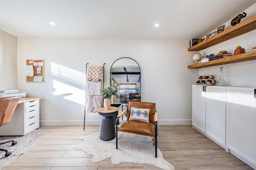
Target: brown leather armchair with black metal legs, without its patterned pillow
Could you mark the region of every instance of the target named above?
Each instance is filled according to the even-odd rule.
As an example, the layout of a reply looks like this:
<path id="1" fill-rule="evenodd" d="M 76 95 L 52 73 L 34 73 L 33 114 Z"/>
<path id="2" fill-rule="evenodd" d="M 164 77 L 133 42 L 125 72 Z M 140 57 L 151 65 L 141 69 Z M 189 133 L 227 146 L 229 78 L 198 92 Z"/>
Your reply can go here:
<path id="1" fill-rule="evenodd" d="M 149 123 L 142 121 L 129 120 L 131 114 L 131 107 L 136 107 L 140 109 L 150 109 L 149 112 Z M 118 149 L 118 131 L 128 132 L 146 136 L 155 137 L 155 157 L 157 157 L 157 117 L 156 103 L 149 102 L 139 102 L 139 101 L 129 101 L 128 108 L 124 109 L 122 113 L 117 116 L 116 121 L 124 113 L 127 114 L 127 121 L 121 125 L 119 128 L 116 125 L 116 149 Z"/>

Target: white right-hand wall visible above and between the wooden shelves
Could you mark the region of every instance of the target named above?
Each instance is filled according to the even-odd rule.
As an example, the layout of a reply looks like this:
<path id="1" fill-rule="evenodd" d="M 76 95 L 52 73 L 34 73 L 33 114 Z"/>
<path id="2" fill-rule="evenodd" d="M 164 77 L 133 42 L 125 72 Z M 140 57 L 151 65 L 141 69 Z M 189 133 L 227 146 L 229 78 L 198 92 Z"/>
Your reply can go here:
<path id="1" fill-rule="evenodd" d="M 256 4 L 242 12 L 246 12 L 247 15 L 245 18 L 242 18 L 241 22 L 256 15 Z M 224 23 L 227 28 L 231 27 L 230 22 L 231 20 Z M 234 50 L 236 49 L 237 45 L 244 48 L 246 52 L 250 52 L 252 47 L 256 46 L 256 30 L 250 31 L 246 34 L 232 38 L 231 40 L 219 43 L 212 47 L 208 47 L 200 52 L 204 53 L 204 55 L 210 55 L 212 53 L 216 55 L 220 50 L 226 50 L 228 53 L 234 54 Z M 220 66 L 222 65 L 200 68 L 199 73 L 212 74 L 218 81 L 220 77 Z M 231 63 L 223 66 L 224 80 L 229 86 L 256 87 L 256 60 Z"/>

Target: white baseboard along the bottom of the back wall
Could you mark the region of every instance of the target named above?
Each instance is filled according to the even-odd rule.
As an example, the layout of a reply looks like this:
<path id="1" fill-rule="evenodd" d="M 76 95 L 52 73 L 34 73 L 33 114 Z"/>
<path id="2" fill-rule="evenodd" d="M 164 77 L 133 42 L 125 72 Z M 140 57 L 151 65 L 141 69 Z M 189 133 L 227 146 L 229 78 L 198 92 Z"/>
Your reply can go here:
<path id="1" fill-rule="evenodd" d="M 120 120 L 120 119 L 119 119 Z M 83 126 L 84 120 L 82 121 L 40 121 L 40 126 Z M 86 119 L 86 126 L 100 126 L 100 119 Z M 192 125 L 191 119 L 158 119 L 157 125 Z"/>

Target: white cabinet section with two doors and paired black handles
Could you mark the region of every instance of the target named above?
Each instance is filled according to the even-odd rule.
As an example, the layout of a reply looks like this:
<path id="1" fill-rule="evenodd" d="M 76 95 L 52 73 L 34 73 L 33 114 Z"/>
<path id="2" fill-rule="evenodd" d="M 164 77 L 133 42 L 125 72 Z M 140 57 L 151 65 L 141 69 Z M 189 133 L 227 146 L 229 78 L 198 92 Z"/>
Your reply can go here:
<path id="1" fill-rule="evenodd" d="M 192 125 L 225 148 L 226 87 L 193 85 L 192 88 Z"/>

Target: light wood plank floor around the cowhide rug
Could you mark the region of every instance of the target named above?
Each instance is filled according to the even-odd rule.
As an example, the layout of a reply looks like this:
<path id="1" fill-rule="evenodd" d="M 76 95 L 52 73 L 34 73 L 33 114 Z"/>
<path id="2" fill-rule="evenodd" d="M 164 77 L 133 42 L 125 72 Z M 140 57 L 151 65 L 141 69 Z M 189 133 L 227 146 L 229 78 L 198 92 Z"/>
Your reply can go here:
<path id="1" fill-rule="evenodd" d="M 150 164 L 124 162 L 112 165 L 107 159 L 98 163 L 73 147 L 83 143 L 80 136 L 100 131 L 100 126 L 40 127 L 55 130 L 3 170 L 159 170 Z M 192 126 L 158 126 L 158 148 L 176 170 L 249 170 L 238 158 L 206 138 Z"/>

